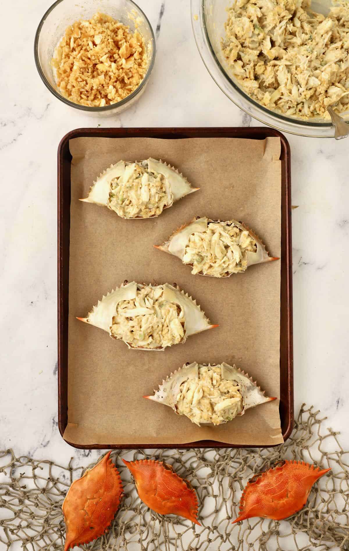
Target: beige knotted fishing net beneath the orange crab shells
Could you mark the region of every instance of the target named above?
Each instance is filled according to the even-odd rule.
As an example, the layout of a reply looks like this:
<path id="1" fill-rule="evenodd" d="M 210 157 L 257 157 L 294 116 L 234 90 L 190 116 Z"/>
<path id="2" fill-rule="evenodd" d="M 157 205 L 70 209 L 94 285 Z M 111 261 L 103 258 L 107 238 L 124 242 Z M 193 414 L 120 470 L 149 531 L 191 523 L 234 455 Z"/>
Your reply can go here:
<path id="1" fill-rule="evenodd" d="M 260 549 L 292 551 L 349 549 L 349 452 L 325 418 L 312 407 L 299 412 L 291 437 L 263 450 L 154 450 L 151 457 L 173 464 L 192 482 L 199 497 L 202 527 L 179 517 L 161 517 L 138 498 L 121 457 L 144 458 L 143 450 L 112 453 L 124 484 L 124 499 L 111 531 L 90 549 L 155 551 Z M 148 456 L 150 457 L 150 456 Z M 286 521 L 252 518 L 232 525 L 249 478 L 283 459 L 304 460 L 332 471 L 315 483 L 304 509 Z M 70 483 L 87 467 L 68 466 L 0 452 L 0 542 L 3 549 L 63 549 L 62 502 Z M 17 542 L 17 543 L 16 543 Z"/>

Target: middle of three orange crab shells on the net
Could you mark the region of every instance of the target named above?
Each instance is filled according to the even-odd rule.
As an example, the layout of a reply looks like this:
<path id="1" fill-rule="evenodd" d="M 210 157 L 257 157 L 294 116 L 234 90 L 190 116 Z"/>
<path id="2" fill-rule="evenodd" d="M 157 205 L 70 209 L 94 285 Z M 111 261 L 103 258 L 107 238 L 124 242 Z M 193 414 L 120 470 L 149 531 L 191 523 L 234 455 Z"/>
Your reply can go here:
<path id="1" fill-rule="evenodd" d="M 198 526 L 198 498 L 188 480 L 173 472 L 171 465 L 143 459 L 122 460 L 132 473 L 140 499 L 160 515 L 178 515 Z"/>

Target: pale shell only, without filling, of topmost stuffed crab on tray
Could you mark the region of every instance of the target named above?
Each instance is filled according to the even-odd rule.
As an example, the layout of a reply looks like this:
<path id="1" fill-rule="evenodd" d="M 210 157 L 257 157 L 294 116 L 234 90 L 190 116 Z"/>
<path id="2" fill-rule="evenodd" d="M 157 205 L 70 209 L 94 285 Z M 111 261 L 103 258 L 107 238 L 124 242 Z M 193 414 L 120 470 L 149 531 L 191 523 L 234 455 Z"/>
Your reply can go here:
<path id="1" fill-rule="evenodd" d="M 147 164 L 149 172 L 157 172 L 158 174 L 162 174 L 163 176 L 165 176 L 166 188 L 168 186 L 168 191 L 172 193 L 173 197 L 173 201 L 171 201 L 171 203 L 168 204 L 165 208 L 172 207 L 173 202 L 178 201 L 178 199 L 181 199 L 186 195 L 189 195 L 189 193 L 193 193 L 194 191 L 199 190 L 198 187 L 190 186 L 188 180 L 182 174 L 179 174 L 178 170 L 170 165 L 167 165 L 166 163 L 163 163 L 161 159 L 160 161 L 157 161 L 150 157 L 149 159 L 140 161 L 139 164 Z M 98 205 L 101 205 L 102 207 L 110 208 L 109 195 L 112 188 L 112 180 L 114 178 L 123 176 L 126 170 L 132 172 L 134 169 L 134 165 L 135 163 L 130 163 L 130 161 L 119 161 L 116 165 L 110 165 L 110 167 L 102 172 L 102 174 L 100 174 L 97 180 L 93 183 L 88 197 L 86 197 L 85 199 L 80 199 L 80 201 L 84 201 L 86 203 L 96 203 Z M 158 215 L 153 215 L 149 218 L 154 218 L 155 216 Z M 141 216 L 137 216 L 134 218 L 144 219 Z"/>

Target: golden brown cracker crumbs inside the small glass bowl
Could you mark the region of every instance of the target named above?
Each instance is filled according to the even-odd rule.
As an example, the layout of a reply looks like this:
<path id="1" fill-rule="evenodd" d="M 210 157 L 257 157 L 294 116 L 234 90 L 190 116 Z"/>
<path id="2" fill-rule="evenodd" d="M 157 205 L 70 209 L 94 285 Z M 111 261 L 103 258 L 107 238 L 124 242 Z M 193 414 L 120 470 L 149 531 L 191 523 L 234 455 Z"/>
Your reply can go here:
<path id="1" fill-rule="evenodd" d="M 148 69 L 144 39 L 109 15 L 70 25 L 52 58 L 61 94 L 80 105 L 103 107 L 127 98 Z"/>

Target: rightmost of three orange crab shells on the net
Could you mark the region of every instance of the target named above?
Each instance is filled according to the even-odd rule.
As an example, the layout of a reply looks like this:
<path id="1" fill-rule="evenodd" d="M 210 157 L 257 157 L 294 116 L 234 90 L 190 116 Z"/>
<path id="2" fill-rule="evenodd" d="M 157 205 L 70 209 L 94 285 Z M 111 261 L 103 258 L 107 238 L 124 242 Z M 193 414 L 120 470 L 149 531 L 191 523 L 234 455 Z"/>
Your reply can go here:
<path id="1" fill-rule="evenodd" d="M 331 469 L 304 461 L 285 461 L 249 480 L 240 500 L 240 515 L 233 521 L 263 517 L 282 520 L 301 510 L 307 503 L 314 482 Z"/>

